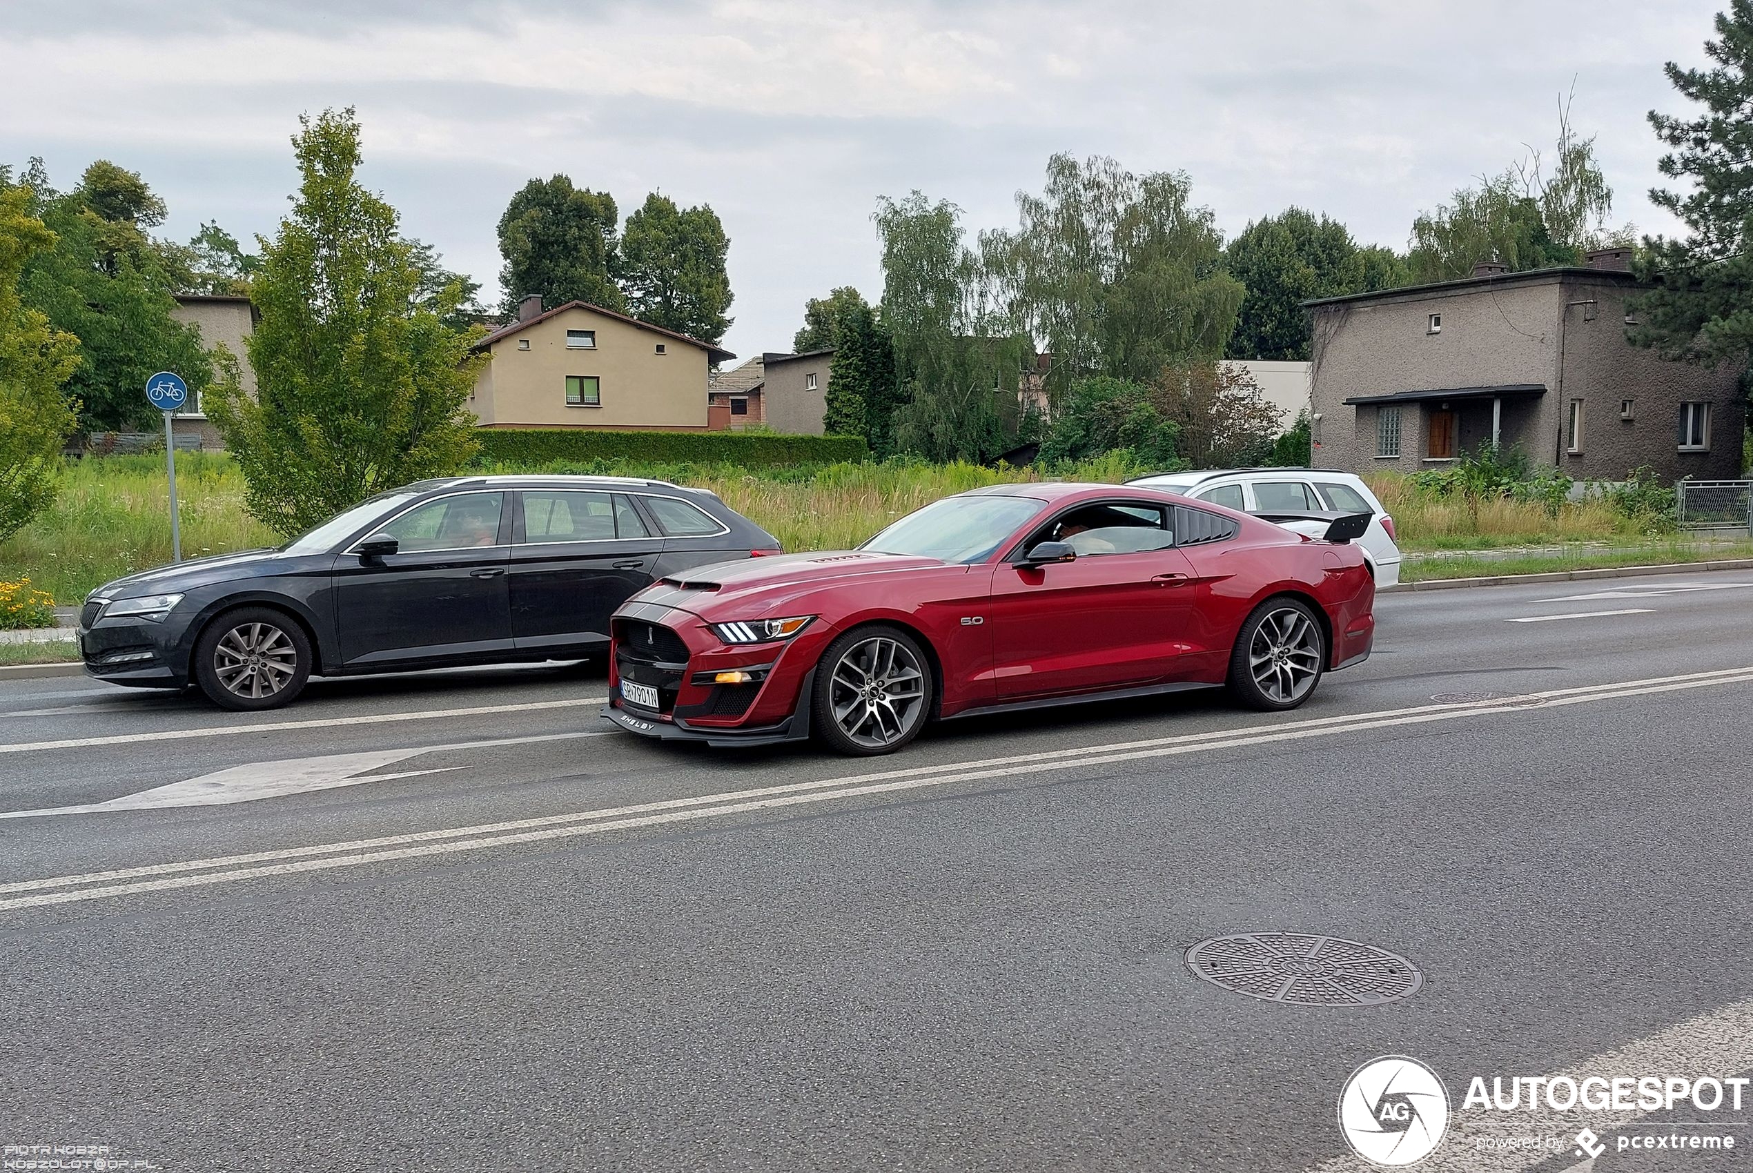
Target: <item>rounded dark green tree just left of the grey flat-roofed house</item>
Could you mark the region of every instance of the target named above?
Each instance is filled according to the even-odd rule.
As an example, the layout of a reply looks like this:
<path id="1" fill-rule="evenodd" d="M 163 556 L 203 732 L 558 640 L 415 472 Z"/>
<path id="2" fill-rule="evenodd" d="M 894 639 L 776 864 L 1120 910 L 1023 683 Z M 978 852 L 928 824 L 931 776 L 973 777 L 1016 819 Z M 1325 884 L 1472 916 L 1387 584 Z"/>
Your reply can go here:
<path id="1" fill-rule="evenodd" d="M 1224 263 L 1246 288 L 1229 358 L 1306 361 L 1302 302 L 1404 284 L 1392 249 L 1360 249 L 1345 224 L 1299 207 L 1248 224 L 1224 249 Z"/>

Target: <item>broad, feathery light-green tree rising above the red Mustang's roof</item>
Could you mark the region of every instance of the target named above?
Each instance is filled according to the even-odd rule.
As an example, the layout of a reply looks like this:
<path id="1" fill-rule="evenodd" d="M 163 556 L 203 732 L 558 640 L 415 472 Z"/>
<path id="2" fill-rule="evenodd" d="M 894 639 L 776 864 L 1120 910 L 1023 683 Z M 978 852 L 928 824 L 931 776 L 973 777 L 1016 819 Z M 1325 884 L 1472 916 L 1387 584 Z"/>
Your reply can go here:
<path id="1" fill-rule="evenodd" d="M 1243 288 L 1190 193 L 1178 172 L 1055 154 L 1045 193 L 1017 195 L 1020 226 L 982 237 L 990 295 L 1054 356 L 1050 395 L 1092 373 L 1153 379 L 1176 358 L 1224 352 Z"/>

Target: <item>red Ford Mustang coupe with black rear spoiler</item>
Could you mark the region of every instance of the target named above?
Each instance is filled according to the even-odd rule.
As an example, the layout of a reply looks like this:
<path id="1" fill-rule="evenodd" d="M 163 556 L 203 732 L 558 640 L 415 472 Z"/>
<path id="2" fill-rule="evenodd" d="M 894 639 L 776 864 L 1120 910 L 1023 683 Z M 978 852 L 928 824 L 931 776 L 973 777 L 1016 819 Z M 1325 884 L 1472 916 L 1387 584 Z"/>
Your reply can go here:
<path id="1" fill-rule="evenodd" d="M 813 733 L 887 754 L 931 719 L 1190 687 L 1295 708 L 1369 656 L 1359 517 L 1311 540 L 1138 486 L 961 493 L 857 551 L 717 563 L 635 594 L 612 621 L 603 715 L 656 738 Z"/>

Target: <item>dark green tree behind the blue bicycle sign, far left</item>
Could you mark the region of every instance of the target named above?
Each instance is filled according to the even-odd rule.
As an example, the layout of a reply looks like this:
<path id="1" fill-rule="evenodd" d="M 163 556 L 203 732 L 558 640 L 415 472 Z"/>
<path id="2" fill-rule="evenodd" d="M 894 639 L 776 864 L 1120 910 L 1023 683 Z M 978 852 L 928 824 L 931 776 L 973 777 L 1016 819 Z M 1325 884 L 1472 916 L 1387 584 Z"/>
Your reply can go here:
<path id="1" fill-rule="evenodd" d="M 212 379 L 200 331 L 172 317 L 177 281 L 140 230 L 156 223 L 163 205 L 149 191 L 142 196 L 137 179 L 102 161 L 65 195 L 49 186 L 39 161 L 25 177 L 54 244 L 26 261 L 19 295 L 51 326 L 79 338 L 68 391 L 81 402 L 81 428 L 153 426 L 158 412 L 145 402 L 145 380 L 154 372 L 177 372 L 196 395 Z"/>

